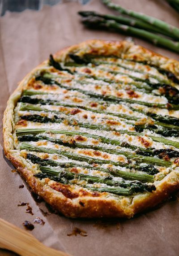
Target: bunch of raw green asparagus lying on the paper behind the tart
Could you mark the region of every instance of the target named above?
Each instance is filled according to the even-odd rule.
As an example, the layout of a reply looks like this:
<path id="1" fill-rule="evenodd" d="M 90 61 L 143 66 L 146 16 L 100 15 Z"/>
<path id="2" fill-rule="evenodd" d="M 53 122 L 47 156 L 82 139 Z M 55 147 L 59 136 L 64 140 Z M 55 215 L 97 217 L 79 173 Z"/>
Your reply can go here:
<path id="1" fill-rule="evenodd" d="M 82 22 L 85 26 L 95 29 L 111 29 L 119 33 L 141 37 L 151 43 L 179 53 L 179 28 L 143 13 L 124 9 L 118 4 L 111 3 L 110 0 L 102 0 L 102 2 L 107 7 L 126 16 L 80 11 L 79 14 L 83 17 Z M 179 9 L 179 0 L 168 2 Z"/>

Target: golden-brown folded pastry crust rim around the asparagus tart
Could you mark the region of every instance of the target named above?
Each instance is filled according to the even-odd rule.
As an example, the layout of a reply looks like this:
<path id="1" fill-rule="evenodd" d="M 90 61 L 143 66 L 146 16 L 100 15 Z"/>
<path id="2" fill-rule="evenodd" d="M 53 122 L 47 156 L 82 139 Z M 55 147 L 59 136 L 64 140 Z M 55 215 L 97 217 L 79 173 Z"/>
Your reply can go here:
<path id="1" fill-rule="evenodd" d="M 63 60 L 67 57 L 68 52 L 76 50 L 81 51 L 81 49 L 86 51 L 86 49 L 88 50 L 91 47 L 95 48 L 96 46 L 99 47 L 99 49 L 102 49 L 102 46 L 104 49 L 114 48 L 117 52 L 121 52 L 123 56 L 130 59 L 135 58 L 136 60 L 155 62 L 159 66 L 173 72 L 175 75 L 179 75 L 178 61 L 168 59 L 146 48 L 136 46 L 126 41 L 88 40 L 72 47 L 64 48 L 55 54 L 55 58 Z M 104 49 L 102 49 L 102 51 Z M 99 197 L 84 196 L 71 200 L 66 198 L 61 192 L 54 191 L 51 187 L 47 186 L 47 184 L 35 178 L 32 171 L 25 166 L 23 160 L 13 152 L 13 110 L 17 100 L 21 96 L 24 83 L 30 79 L 36 70 L 46 64 L 47 61 L 44 61 L 19 83 L 17 89 L 8 100 L 3 117 L 4 154 L 23 178 L 26 179 L 35 193 L 41 195 L 47 203 L 51 204 L 51 206 L 63 213 L 66 217 L 132 217 L 135 213 L 153 208 L 165 200 L 171 192 L 179 188 L 179 170 L 175 170 L 156 185 L 156 191 L 135 195 L 131 197 L 130 200 L 126 197 L 121 197 L 120 200 L 116 197 L 107 199 L 103 194 Z M 80 202 L 82 202 L 84 206 L 82 206 Z"/>

